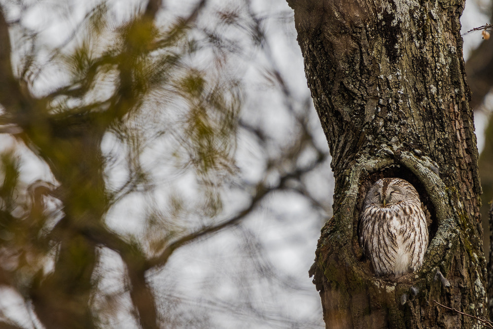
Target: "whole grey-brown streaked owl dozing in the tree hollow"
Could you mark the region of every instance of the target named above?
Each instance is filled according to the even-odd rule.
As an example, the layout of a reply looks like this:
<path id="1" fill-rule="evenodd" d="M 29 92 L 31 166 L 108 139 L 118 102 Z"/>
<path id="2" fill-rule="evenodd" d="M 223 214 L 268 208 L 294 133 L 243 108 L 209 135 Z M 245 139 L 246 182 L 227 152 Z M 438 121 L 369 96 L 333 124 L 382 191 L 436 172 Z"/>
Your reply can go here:
<path id="1" fill-rule="evenodd" d="M 359 216 L 359 242 L 376 275 L 399 277 L 420 268 L 428 227 L 413 185 L 384 178 L 370 187 Z"/>

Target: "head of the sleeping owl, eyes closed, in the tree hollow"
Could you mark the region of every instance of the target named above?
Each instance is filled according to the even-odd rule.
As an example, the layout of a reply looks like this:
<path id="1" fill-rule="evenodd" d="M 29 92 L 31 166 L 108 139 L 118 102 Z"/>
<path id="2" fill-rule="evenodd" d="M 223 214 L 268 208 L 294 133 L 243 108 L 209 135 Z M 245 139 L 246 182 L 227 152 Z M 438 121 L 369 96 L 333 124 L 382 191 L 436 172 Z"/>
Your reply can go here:
<path id="1" fill-rule="evenodd" d="M 391 207 L 400 201 L 408 200 L 419 194 L 413 185 L 400 178 L 383 178 L 375 182 L 363 201 L 363 208 L 369 205 L 380 205 L 382 208 Z"/>

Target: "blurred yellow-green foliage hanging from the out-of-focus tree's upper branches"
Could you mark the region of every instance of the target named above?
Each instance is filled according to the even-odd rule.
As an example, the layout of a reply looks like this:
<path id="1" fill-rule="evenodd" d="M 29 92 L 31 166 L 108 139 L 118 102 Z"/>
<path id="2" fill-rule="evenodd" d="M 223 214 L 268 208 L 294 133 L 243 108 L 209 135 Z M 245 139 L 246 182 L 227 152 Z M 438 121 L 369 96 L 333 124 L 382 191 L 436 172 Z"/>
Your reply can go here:
<path id="1" fill-rule="evenodd" d="M 220 202 L 213 189 L 224 172 L 235 172 L 241 83 L 219 78 L 215 68 L 190 66 L 204 43 L 189 35 L 183 19 L 163 29 L 147 16 L 134 16 L 115 29 L 109 18 L 105 5 L 95 8 L 77 34 L 81 40 L 54 58 L 71 76 L 69 85 L 52 93 L 51 111 L 97 113 L 102 132 L 111 131 L 130 152 L 133 185 L 149 183 L 141 164 L 145 148 L 174 139 L 178 169 L 195 169 L 204 205 L 216 213 Z M 173 132 L 163 129 L 170 116 L 176 119 Z"/>

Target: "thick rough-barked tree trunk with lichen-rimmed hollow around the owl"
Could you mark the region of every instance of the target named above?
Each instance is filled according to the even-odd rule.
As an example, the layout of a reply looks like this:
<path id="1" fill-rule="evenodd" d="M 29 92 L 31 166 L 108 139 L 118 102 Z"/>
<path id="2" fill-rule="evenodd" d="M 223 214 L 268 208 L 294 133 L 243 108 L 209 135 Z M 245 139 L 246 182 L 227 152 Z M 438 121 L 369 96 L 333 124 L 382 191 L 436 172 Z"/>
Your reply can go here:
<path id="1" fill-rule="evenodd" d="M 460 37 L 463 1 L 288 0 L 335 176 L 311 269 L 327 328 L 471 328 L 487 316 L 481 185 Z M 358 243 L 368 187 L 413 183 L 421 269 L 376 277 Z"/>

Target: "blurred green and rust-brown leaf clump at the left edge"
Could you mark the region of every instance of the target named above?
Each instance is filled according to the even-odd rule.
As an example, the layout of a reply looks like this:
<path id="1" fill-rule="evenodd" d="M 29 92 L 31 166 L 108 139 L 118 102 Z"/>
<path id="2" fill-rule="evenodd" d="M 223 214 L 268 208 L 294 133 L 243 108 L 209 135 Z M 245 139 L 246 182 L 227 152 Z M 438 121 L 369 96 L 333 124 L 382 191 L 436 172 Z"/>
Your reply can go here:
<path id="1" fill-rule="evenodd" d="M 43 186 L 20 181 L 20 159 L 12 150 L 0 154 L 0 284 L 21 292 L 46 265 L 49 241 L 43 229 L 47 217 Z M 24 188 L 23 188 L 24 187 Z"/>

